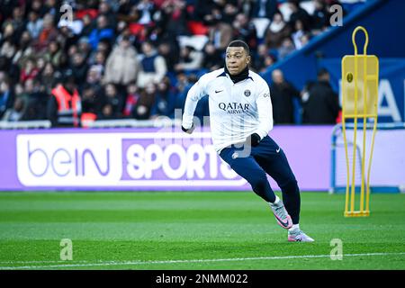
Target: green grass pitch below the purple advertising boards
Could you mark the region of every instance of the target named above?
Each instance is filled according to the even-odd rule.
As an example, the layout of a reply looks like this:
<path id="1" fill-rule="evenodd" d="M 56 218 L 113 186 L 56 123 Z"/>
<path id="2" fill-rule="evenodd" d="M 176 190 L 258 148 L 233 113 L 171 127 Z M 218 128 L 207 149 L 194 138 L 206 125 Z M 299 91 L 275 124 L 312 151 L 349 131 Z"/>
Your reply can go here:
<path id="1" fill-rule="evenodd" d="M 405 269 L 405 194 L 372 194 L 368 218 L 343 206 L 342 194 L 302 193 L 316 241 L 289 243 L 252 192 L 0 193 L 0 269 Z"/>

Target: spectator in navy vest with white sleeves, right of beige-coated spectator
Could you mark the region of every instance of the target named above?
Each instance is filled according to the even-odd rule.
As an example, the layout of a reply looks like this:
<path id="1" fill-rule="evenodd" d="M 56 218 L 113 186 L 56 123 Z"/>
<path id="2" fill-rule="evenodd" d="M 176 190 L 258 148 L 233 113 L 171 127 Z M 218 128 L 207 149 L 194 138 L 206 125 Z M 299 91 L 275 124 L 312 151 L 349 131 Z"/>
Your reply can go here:
<path id="1" fill-rule="evenodd" d="M 157 53 L 152 43 L 148 41 L 142 43 L 142 53 L 137 81 L 140 88 L 148 83 L 159 83 L 167 72 L 165 59 Z"/>

